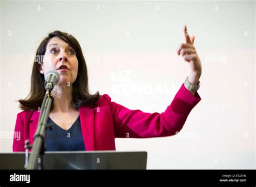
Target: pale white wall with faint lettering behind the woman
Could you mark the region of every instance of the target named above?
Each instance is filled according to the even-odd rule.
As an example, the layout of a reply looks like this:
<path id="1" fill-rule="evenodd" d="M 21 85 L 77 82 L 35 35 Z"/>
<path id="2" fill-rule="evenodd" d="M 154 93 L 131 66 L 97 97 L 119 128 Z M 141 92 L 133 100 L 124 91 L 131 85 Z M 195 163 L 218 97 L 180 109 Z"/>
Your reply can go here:
<path id="1" fill-rule="evenodd" d="M 255 168 L 255 1 L 1 1 L 0 152 L 12 151 L 15 100 L 28 95 L 31 56 L 49 32 L 80 42 L 92 93 L 163 112 L 190 71 L 176 53 L 185 24 L 203 65 L 201 102 L 178 135 L 116 148 L 146 150 L 149 169 Z"/>

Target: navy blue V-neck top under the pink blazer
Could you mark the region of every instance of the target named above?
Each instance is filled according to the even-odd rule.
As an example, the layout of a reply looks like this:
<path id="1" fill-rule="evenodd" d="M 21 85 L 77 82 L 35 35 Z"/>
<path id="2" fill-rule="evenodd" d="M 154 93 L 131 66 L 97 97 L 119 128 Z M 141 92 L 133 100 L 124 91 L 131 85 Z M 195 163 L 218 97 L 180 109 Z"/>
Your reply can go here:
<path id="1" fill-rule="evenodd" d="M 85 150 L 80 116 L 69 130 L 64 130 L 56 125 L 50 117 L 48 117 L 47 123 L 52 125 L 52 130 L 47 128 L 46 131 L 46 151 Z"/>

